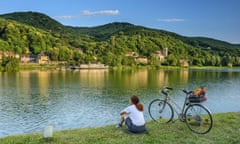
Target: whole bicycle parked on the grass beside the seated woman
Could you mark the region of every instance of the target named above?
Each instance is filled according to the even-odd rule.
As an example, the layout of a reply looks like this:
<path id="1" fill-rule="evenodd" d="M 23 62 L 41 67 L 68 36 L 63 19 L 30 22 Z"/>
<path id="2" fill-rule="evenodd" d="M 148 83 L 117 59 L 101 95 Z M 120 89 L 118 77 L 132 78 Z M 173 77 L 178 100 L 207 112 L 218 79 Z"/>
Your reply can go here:
<path id="1" fill-rule="evenodd" d="M 185 122 L 192 132 L 197 134 L 208 133 L 212 129 L 213 119 L 208 108 L 200 104 L 201 99 L 191 100 L 193 91 L 182 90 L 186 94 L 186 97 L 181 108 L 170 98 L 170 90 L 173 89 L 164 87 L 161 90 L 161 93 L 165 96 L 164 99 L 154 99 L 151 101 L 148 106 L 150 117 L 159 123 L 169 123 L 174 122 L 174 112 L 176 112 L 178 119 Z"/>

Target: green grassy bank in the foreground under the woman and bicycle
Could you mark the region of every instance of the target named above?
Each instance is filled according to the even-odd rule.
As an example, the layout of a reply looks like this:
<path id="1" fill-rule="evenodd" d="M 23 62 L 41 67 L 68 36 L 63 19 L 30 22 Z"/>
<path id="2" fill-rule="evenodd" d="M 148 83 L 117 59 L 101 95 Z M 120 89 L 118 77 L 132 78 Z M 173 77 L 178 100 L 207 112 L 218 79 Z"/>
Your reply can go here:
<path id="1" fill-rule="evenodd" d="M 199 135 L 192 133 L 184 123 L 176 121 L 171 124 L 159 125 L 153 121 L 147 122 L 149 134 L 130 134 L 126 128 L 116 129 L 115 125 L 55 131 L 51 141 L 45 141 L 42 134 L 26 134 L 9 136 L 0 139 L 1 144 L 226 144 L 240 143 L 240 112 L 220 113 L 213 115 L 212 130 Z"/>

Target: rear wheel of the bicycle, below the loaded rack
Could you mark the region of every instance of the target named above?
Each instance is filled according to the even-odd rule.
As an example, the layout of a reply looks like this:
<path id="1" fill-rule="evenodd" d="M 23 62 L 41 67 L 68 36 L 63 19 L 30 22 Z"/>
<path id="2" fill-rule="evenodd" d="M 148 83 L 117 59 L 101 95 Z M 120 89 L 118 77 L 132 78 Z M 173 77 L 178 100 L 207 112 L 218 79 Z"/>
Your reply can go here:
<path id="1" fill-rule="evenodd" d="M 213 120 L 210 111 L 201 104 L 190 104 L 184 114 L 187 127 L 198 134 L 206 134 L 212 129 Z"/>

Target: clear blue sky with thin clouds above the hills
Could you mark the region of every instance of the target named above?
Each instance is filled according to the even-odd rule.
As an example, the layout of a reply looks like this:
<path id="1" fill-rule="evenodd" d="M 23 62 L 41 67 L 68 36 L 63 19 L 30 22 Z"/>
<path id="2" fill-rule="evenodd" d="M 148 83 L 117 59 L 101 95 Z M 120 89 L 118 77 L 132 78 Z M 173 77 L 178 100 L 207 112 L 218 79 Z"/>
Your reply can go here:
<path id="1" fill-rule="evenodd" d="M 2 0 L 0 14 L 36 11 L 64 25 L 129 22 L 240 44 L 240 0 Z"/>

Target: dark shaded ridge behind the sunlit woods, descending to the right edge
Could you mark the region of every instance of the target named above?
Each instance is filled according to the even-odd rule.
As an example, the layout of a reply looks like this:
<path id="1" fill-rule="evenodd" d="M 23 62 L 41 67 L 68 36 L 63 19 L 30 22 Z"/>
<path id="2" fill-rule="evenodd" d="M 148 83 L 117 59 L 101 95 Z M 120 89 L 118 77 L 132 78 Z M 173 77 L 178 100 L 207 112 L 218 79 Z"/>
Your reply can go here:
<path id="1" fill-rule="evenodd" d="M 225 53 L 226 51 L 233 50 L 233 54 L 239 55 L 240 54 L 240 44 L 231 44 L 228 42 L 224 42 L 221 40 L 216 40 L 213 38 L 206 38 L 206 37 L 185 37 L 178 35 L 173 32 L 168 32 L 164 30 L 158 29 L 151 29 L 146 28 L 143 26 L 136 26 L 130 23 L 120 23 L 114 22 L 109 23 L 102 26 L 97 27 L 89 27 L 89 28 L 75 28 L 80 33 L 88 34 L 96 39 L 106 40 L 109 39 L 111 36 L 117 34 L 118 32 L 122 31 L 124 34 L 133 34 L 133 33 L 158 33 L 157 35 L 161 36 L 169 36 L 175 39 L 181 40 L 184 43 L 191 45 L 196 48 L 202 49 L 211 49 L 212 51 L 218 51 L 219 53 Z"/>

